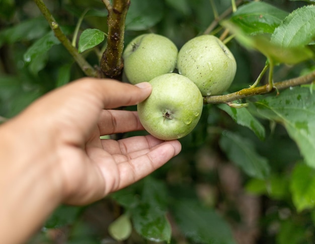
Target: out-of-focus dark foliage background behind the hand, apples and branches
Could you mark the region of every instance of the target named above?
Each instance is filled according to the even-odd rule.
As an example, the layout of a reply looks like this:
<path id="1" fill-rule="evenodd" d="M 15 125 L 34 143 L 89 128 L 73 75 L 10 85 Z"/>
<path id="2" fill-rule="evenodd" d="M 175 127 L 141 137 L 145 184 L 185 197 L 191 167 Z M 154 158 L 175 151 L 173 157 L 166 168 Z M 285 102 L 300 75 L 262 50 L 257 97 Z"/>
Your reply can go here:
<path id="1" fill-rule="evenodd" d="M 264 2 L 288 14 L 307 4 Z M 101 1 L 44 3 L 70 40 L 79 20 L 78 37 L 87 28 L 107 32 L 107 10 Z M 169 37 L 180 48 L 207 30 L 214 13 L 220 16 L 224 12 L 228 19 L 231 1 L 131 0 L 125 44 L 139 34 L 153 32 Z M 220 36 L 222 32 L 216 25 L 211 33 Z M 106 38 L 82 53 L 91 66 L 99 66 L 105 45 Z M 228 92 L 248 88 L 263 70 L 266 58 L 234 39 L 227 46 L 238 64 Z M 278 66 L 274 80 L 298 77 L 313 67 L 313 60 Z M 34 1 L 0 0 L 1 123 L 50 90 L 84 76 L 53 36 Z M 259 99 L 262 96 L 249 101 Z M 258 117 L 257 127 L 248 128 L 235 123 L 226 110 L 224 104 L 204 105 L 198 126 L 181 139 L 180 155 L 95 204 L 60 206 L 29 243 L 315 243 L 315 211 L 297 211 L 292 201 L 294 191 L 313 191 L 292 188 L 292 177 L 314 174 L 301 163 L 296 143 L 272 120 Z M 247 111 L 258 115 L 251 106 Z M 117 137 L 139 134 L 145 132 Z M 315 187 L 313 181 L 310 184 Z"/>

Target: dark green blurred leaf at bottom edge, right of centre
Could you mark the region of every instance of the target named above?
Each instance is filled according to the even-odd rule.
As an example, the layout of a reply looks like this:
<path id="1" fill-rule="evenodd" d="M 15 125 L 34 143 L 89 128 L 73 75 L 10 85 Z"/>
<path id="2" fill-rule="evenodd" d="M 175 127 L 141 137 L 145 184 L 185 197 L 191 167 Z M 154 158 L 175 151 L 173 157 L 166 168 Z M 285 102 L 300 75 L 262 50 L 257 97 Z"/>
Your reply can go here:
<path id="1" fill-rule="evenodd" d="M 196 200 L 175 201 L 172 214 L 182 234 L 191 239 L 189 243 L 236 243 L 227 222 Z"/>

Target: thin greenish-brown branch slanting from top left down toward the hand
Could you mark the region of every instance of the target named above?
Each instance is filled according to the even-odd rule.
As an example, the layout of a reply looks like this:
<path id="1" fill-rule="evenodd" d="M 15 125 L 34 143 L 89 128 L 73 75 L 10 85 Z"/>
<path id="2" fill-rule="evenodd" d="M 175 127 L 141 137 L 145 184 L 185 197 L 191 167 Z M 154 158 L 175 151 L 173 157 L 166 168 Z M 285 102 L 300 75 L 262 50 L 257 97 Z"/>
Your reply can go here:
<path id="1" fill-rule="evenodd" d="M 60 26 L 51 15 L 50 11 L 47 9 L 46 5 L 42 0 L 34 0 L 39 10 L 42 12 L 43 16 L 49 23 L 52 31 L 58 40 L 62 43 L 62 45 L 68 50 L 68 52 L 73 56 L 75 62 L 80 66 L 83 72 L 90 77 L 97 77 L 98 73 L 95 69 L 90 66 L 90 64 L 84 59 L 77 51 L 77 49 L 72 46 L 70 40 L 66 37 L 66 35 L 60 29 Z"/>

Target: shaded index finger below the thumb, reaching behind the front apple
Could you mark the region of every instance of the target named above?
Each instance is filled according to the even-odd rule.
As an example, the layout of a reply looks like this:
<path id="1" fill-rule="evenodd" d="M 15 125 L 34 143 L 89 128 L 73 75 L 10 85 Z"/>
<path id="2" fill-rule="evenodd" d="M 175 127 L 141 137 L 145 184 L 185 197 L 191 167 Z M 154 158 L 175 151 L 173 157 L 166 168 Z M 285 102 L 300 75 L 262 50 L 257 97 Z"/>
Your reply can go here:
<path id="1" fill-rule="evenodd" d="M 101 136 L 143 130 L 136 111 L 103 110 L 98 127 Z"/>

